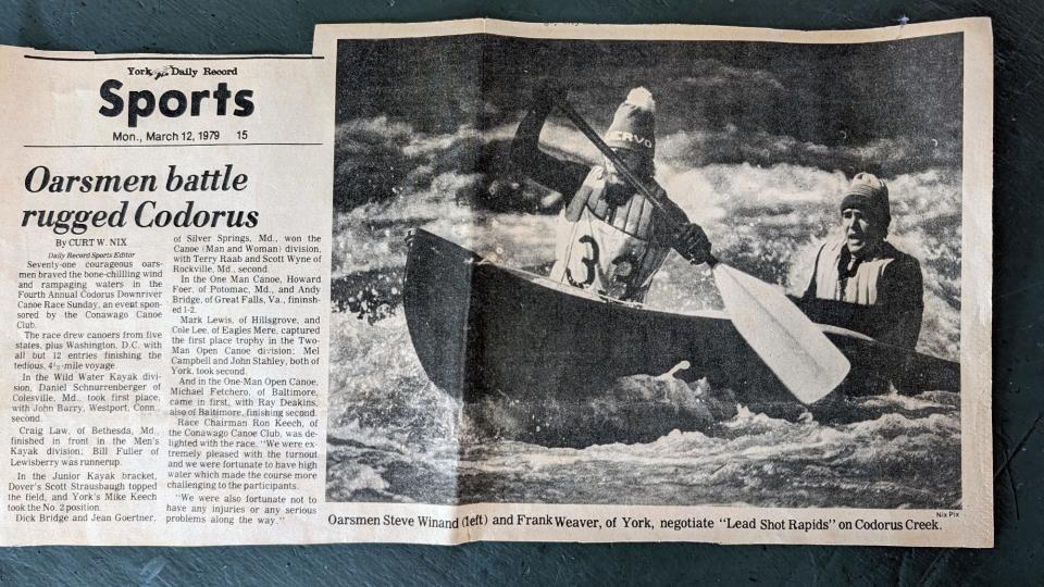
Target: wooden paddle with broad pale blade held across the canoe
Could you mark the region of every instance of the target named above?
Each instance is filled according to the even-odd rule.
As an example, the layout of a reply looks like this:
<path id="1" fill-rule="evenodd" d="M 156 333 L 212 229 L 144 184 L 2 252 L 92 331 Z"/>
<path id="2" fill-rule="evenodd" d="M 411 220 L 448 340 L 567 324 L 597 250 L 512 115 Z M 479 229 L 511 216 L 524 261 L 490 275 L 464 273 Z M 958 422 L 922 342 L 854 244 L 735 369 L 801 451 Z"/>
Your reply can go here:
<path id="1" fill-rule="evenodd" d="M 651 180 L 652 189 L 638 178 L 568 101 L 562 99 L 556 105 L 668 222 L 679 224 L 671 207 L 662 201 L 656 180 Z M 852 369 L 848 359 L 780 288 L 713 257 L 707 263 L 736 330 L 798 400 L 813 403 L 841 384 Z"/>

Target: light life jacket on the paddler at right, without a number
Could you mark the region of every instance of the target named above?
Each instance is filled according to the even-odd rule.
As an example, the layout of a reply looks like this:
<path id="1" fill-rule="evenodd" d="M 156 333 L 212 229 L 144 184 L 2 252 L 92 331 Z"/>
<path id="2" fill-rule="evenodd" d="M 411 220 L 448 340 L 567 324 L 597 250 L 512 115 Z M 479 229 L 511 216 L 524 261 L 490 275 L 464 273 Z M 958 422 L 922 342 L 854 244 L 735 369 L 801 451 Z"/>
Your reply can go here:
<path id="1" fill-rule="evenodd" d="M 898 251 L 883 242 L 881 251 L 873 259 L 857 261 L 849 274 L 841 267 L 842 255 L 850 258 L 845 251 L 845 240 L 828 241 L 816 258 L 816 297 L 821 300 L 837 300 L 859 305 L 873 305 L 878 302 L 878 283 L 885 267 L 896 260 Z M 896 254 L 888 254 L 895 251 Z M 847 259 L 846 259 L 847 261 Z M 847 264 L 847 263 L 846 263 Z M 842 272 L 845 271 L 845 274 Z"/>

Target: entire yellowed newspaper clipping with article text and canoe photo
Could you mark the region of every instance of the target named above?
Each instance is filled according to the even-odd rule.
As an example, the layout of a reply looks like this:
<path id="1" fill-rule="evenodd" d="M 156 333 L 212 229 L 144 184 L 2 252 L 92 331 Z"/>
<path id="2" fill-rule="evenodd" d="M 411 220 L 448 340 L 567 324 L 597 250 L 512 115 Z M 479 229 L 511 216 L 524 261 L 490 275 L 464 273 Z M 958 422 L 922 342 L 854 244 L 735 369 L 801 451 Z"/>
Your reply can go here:
<path id="1" fill-rule="evenodd" d="M 313 53 L 0 48 L 2 544 L 992 546 L 989 20 Z"/>

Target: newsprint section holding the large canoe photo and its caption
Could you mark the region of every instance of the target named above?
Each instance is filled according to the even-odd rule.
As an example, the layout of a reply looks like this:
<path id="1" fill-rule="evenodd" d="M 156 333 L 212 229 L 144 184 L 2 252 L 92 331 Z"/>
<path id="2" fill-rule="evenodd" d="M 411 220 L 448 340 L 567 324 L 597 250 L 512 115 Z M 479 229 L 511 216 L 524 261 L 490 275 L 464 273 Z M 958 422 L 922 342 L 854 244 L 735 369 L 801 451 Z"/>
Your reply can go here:
<path id="1" fill-rule="evenodd" d="M 321 25 L 313 52 L 310 538 L 993 545 L 989 20 Z"/>

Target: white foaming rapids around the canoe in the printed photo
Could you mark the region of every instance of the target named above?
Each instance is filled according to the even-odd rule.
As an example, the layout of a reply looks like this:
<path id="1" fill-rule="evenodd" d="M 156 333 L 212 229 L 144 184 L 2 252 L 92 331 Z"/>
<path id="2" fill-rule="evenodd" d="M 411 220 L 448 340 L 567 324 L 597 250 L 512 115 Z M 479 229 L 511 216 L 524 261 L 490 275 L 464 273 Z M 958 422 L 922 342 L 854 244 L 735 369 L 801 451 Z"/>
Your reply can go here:
<path id="1" fill-rule="evenodd" d="M 804 289 L 836 225 L 840 173 L 795 165 L 660 173 L 721 259 Z M 332 321 L 331 500 L 959 507 L 956 394 L 842 398 L 809 412 L 736 405 L 728 389 L 660 374 L 618 380 L 576 404 L 469 405 L 438 389 L 413 353 L 399 305 L 407 233 L 424 227 L 538 273 L 554 260 L 554 217 L 462 204 L 460 191 L 472 185 L 447 172 L 335 218 L 334 297 L 343 300 Z M 924 275 L 918 350 L 957 360 L 959 171 L 902 175 L 890 187 L 890 240 L 918 258 Z M 347 298 L 359 292 L 370 303 L 351 307 Z M 647 303 L 684 312 L 721 301 L 706 270 L 672 254 Z"/>

